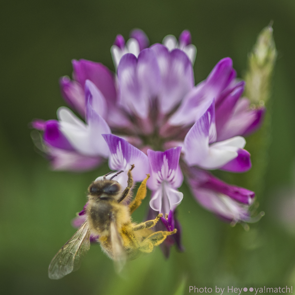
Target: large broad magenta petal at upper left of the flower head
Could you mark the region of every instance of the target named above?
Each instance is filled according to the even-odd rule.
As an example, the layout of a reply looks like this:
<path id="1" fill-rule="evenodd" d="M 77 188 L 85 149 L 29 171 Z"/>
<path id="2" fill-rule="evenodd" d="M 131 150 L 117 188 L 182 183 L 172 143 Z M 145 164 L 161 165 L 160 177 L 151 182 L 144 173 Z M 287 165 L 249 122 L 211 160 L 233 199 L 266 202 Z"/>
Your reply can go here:
<path id="1" fill-rule="evenodd" d="M 116 89 L 112 73 L 101 63 L 90 60 L 73 60 L 75 79 L 84 88 L 85 81 L 92 81 L 106 98 L 107 104 L 114 104 L 116 101 Z"/>

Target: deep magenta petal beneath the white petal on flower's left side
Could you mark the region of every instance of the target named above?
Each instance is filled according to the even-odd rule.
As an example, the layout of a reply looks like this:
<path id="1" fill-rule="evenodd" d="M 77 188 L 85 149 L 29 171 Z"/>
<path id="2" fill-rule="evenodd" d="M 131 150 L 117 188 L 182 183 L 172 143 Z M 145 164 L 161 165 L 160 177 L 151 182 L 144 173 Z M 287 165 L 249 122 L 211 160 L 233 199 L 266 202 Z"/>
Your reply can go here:
<path id="1" fill-rule="evenodd" d="M 45 122 L 43 140 L 56 148 L 74 150 L 70 142 L 59 130 L 59 123 L 57 120 L 48 120 Z"/>

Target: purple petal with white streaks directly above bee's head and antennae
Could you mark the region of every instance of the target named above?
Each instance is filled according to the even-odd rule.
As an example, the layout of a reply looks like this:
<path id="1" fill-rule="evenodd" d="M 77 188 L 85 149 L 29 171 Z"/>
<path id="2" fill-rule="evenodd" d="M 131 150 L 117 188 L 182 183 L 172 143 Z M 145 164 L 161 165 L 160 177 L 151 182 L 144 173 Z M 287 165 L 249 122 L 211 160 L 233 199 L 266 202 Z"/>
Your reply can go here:
<path id="1" fill-rule="evenodd" d="M 123 138 L 112 134 L 103 134 L 102 136 L 104 137 L 104 140 L 109 146 L 109 150 L 111 152 L 109 156 L 109 167 L 116 171 L 128 171 L 130 169 L 130 165 L 135 165 L 132 170 L 133 179 L 134 181 L 142 181 L 149 172 L 147 155 L 142 153 L 142 151 L 135 148 Z"/>

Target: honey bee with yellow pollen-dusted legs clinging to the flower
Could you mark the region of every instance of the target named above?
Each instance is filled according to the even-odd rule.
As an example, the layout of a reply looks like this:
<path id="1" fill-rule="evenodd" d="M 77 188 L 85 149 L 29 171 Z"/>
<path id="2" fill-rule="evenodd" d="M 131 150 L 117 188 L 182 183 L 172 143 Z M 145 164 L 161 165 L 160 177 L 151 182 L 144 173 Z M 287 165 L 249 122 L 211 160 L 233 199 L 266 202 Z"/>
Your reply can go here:
<path id="1" fill-rule="evenodd" d="M 78 270 L 81 258 L 90 248 L 90 235 L 98 235 L 101 249 L 109 258 L 114 260 L 117 271 L 121 271 L 127 259 L 134 259 L 140 252 L 150 253 L 154 246 L 160 245 L 173 231 L 153 232 L 152 227 L 163 214 L 153 220 L 134 223 L 131 214 L 140 206 L 146 196 L 146 182 L 142 181 L 135 198 L 129 202 L 132 194 L 133 179 L 131 166 L 128 171 L 127 187 L 122 193 L 121 185 L 113 180 L 120 171 L 110 179 L 106 174 L 103 180 L 91 183 L 88 188 L 88 202 L 86 205 L 86 221 L 77 232 L 53 257 L 48 269 L 51 279 L 60 279 L 72 271 Z"/>

